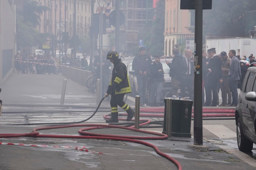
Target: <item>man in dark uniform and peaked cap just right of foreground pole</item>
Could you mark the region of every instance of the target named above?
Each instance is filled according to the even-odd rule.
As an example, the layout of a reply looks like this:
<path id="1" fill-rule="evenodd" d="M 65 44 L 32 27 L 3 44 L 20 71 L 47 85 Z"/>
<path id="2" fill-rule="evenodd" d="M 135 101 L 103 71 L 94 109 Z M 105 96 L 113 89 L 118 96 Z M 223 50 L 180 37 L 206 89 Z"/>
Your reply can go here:
<path id="1" fill-rule="evenodd" d="M 221 64 L 222 59 L 216 54 L 215 48 L 211 48 L 207 50 L 209 56 L 211 57 L 209 60 L 209 64 L 207 66 L 209 70 L 208 80 L 205 84 L 205 106 L 217 106 L 217 97 L 218 92 L 218 82 L 222 83 L 222 75 L 221 75 Z M 211 93 L 212 93 L 212 104 L 208 105 L 211 101 Z"/>

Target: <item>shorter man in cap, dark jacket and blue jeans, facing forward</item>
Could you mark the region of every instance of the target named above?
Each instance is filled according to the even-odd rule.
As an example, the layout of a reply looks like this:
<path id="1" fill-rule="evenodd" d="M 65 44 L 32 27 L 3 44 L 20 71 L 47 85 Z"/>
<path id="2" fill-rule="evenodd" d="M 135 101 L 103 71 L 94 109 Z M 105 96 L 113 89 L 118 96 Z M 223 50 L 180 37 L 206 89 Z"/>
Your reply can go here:
<path id="1" fill-rule="evenodd" d="M 149 102 L 150 102 L 150 106 L 160 107 L 162 88 L 163 88 L 163 83 L 165 81 L 164 70 L 163 70 L 162 63 L 160 62 L 160 55 L 155 55 L 154 59 L 155 61 L 149 67 L 150 75 L 151 75 L 150 76 L 151 93 L 150 93 Z M 156 98 L 155 98 L 155 94 L 156 94 Z"/>

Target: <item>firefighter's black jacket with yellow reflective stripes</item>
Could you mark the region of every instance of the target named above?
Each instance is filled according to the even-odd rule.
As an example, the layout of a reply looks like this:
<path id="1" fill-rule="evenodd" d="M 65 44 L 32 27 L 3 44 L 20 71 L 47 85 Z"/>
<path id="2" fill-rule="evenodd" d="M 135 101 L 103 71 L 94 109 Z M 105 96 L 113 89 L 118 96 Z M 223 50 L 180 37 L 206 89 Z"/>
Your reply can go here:
<path id="1" fill-rule="evenodd" d="M 108 94 L 113 92 L 115 92 L 115 94 L 132 92 L 126 66 L 121 62 L 120 58 L 114 63 L 112 78 L 107 90 Z"/>

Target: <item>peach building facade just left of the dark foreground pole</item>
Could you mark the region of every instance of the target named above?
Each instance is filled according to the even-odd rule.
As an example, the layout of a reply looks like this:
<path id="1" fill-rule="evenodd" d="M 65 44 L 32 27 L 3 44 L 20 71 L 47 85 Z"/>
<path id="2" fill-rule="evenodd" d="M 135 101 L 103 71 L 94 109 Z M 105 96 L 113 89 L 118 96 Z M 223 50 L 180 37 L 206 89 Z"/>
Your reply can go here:
<path id="1" fill-rule="evenodd" d="M 186 47 L 186 40 L 194 40 L 194 10 L 180 10 L 180 0 L 165 0 L 164 54 L 172 55 L 174 47 Z"/>

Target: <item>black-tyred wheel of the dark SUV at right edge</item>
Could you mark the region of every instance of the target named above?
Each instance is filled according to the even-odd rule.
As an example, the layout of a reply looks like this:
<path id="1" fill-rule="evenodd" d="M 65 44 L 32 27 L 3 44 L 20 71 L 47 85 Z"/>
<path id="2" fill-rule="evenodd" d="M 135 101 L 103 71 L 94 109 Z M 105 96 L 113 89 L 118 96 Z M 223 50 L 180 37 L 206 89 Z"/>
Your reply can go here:
<path id="1" fill-rule="evenodd" d="M 247 139 L 243 132 L 243 127 L 240 118 L 237 119 L 236 123 L 236 139 L 238 149 L 242 152 L 251 152 L 253 149 L 253 142 Z"/>

